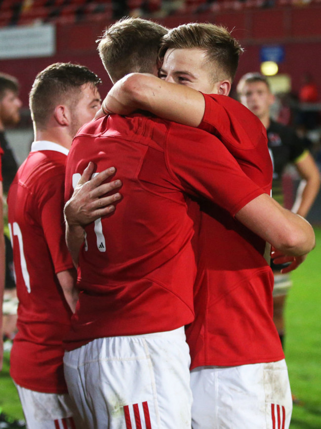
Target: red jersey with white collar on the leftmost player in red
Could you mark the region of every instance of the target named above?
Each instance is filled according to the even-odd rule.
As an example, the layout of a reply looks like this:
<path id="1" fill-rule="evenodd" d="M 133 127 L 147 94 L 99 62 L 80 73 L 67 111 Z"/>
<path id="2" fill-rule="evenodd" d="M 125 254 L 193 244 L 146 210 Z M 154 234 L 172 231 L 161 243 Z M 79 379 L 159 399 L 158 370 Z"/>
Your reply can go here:
<path id="1" fill-rule="evenodd" d="M 8 193 L 19 299 L 10 374 L 18 385 L 46 393 L 67 391 L 62 339 L 72 312 L 56 277 L 73 267 L 63 218 L 67 153 L 56 143 L 34 142 Z"/>

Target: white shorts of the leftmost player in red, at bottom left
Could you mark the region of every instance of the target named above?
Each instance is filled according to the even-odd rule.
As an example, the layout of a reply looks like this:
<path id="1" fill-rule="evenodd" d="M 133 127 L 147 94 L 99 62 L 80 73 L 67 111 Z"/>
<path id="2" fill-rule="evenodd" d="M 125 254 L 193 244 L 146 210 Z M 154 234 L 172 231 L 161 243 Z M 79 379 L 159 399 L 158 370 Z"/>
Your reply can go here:
<path id="1" fill-rule="evenodd" d="M 86 429 L 68 393 L 42 393 L 16 384 L 28 429 Z"/>

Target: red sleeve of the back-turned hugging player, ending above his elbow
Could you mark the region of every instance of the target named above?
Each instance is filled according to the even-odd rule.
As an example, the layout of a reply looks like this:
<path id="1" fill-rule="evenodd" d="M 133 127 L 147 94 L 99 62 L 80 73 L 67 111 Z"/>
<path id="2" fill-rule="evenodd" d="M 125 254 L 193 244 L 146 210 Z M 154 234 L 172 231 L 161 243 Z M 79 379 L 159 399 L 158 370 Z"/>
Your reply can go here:
<path id="1" fill-rule="evenodd" d="M 182 190 L 202 196 L 235 216 L 264 193 L 213 135 L 172 123 L 165 143 L 167 168 Z"/>

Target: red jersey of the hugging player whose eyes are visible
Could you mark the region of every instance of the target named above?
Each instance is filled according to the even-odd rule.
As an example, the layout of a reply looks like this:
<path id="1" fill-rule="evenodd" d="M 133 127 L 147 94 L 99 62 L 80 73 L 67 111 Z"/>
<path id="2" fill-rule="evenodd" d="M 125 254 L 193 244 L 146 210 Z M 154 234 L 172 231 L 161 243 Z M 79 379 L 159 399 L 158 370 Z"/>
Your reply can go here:
<path id="1" fill-rule="evenodd" d="M 273 168 L 261 121 L 230 97 L 204 99 L 201 129 L 218 136 L 246 175 L 270 194 Z M 205 203 L 199 251 L 196 317 L 186 328 L 191 368 L 283 359 L 273 323 L 274 280 L 264 258 L 265 242 L 219 207 Z"/>

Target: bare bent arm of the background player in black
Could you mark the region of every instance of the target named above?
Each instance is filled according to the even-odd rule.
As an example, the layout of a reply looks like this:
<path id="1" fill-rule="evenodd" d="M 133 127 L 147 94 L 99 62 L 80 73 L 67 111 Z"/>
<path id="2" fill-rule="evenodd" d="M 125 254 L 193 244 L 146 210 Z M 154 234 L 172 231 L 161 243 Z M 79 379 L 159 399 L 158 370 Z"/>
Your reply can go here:
<path id="1" fill-rule="evenodd" d="M 310 153 L 299 160 L 295 167 L 302 177 L 292 212 L 306 217 L 320 189 L 320 172 Z"/>

